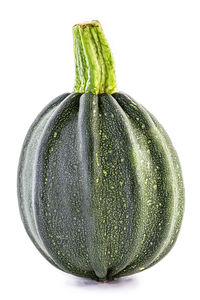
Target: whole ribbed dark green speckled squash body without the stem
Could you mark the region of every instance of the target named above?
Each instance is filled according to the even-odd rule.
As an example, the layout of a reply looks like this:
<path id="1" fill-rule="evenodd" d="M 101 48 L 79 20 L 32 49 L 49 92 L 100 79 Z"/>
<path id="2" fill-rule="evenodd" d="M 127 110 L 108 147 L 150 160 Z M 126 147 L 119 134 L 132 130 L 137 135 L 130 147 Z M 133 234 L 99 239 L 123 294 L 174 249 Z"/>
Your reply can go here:
<path id="1" fill-rule="evenodd" d="M 62 271 L 101 281 L 163 258 L 184 211 L 168 135 L 123 93 L 64 94 L 51 102 L 26 136 L 18 198 L 38 250 Z"/>

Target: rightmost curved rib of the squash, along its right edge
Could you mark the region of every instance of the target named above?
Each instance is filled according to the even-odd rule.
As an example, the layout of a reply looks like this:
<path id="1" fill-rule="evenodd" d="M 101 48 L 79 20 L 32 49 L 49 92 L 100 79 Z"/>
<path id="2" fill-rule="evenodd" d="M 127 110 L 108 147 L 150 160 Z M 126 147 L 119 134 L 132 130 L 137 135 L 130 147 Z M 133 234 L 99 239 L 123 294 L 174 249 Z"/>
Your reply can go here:
<path id="1" fill-rule="evenodd" d="M 183 186 L 178 157 L 169 138 L 166 140 L 166 132 L 162 129 L 161 133 L 161 126 L 156 124 L 152 115 L 129 96 L 115 94 L 114 97 L 134 126 L 138 127 L 140 143 L 142 136 L 145 137 L 147 145 L 144 151 L 149 153 L 151 158 L 150 165 L 150 161 L 145 165 L 146 168 L 152 167 L 156 178 L 156 181 L 150 185 L 155 187 L 155 197 L 150 197 L 148 193 L 149 200 L 147 199 L 146 206 L 148 207 L 147 222 L 149 219 L 150 226 L 146 227 L 141 251 L 136 259 L 133 259 L 124 270 L 117 274 L 120 277 L 150 267 L 169 252 L 180 229 L 182 218 L 178 214 L 177 207 L 181 207 Z M 178 164 L 177 170 L 174 168 L 174 162 Z M 147 178 L 145 184 L 148 182 Z M 182 214 L 182 209 L 180 212 Z"/>

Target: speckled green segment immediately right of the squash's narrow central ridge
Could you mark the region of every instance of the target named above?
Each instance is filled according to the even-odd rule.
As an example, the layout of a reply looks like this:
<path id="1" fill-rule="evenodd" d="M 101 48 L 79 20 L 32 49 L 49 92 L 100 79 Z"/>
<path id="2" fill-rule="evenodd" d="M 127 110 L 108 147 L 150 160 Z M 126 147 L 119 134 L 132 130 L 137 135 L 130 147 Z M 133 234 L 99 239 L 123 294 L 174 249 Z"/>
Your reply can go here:
<path id="1" fill-rule="evenodd" d="M 147 214 L 143 203 L 144 189 L 140 189 L 145 182 L 144 153 L 138 148 L 137 135 L 129 117 L 112 95 L 101 95 L 101 113 L 102 145 L 104 140 L 109 141 L 101 152 L 106 172 L 103 192 L 108 207 L 112 209 L 107 211 L 108 278 L 112 279 L 137 255 L 143 240 Z M 115 162 L 116 159 L 119 162 Z"/>

